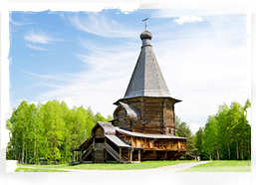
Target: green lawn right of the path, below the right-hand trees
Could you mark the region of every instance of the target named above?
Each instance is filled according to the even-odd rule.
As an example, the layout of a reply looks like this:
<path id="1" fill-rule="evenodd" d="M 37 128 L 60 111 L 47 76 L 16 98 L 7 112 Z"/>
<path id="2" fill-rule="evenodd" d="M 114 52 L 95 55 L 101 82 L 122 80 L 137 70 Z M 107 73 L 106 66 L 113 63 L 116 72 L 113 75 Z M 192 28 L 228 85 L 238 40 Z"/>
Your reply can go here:
<path id="1" fill-rule="evenodd" d="M 180 172 L 251 172 L 251 161 L 212 161 Z"/>

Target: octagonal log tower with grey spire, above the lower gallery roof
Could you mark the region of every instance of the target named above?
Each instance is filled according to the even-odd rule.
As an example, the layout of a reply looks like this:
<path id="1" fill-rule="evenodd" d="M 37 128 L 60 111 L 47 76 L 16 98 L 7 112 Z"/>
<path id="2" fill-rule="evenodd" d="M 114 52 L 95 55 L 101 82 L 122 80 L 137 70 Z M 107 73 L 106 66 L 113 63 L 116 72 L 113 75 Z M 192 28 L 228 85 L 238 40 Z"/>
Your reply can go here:
<path id="1" fill-rule="evenodd" d="M 152 34 L 140 34 L 142 46 L 124 98 L 119 99 L 113 124 L 129 131 L 175 135 L 174 104 L 152 51 Z"/>

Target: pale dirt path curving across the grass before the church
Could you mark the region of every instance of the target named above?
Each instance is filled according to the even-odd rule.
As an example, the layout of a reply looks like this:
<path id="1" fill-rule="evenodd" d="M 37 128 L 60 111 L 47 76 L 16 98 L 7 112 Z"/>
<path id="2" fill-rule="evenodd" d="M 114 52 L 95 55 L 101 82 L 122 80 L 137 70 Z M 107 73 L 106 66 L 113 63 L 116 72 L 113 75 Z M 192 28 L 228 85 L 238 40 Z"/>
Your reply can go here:
<path id="1" fill-rule="evenodd" d="M 200 162 L 191 162 L 191 163 L 181 163 L 181 164 L 176 164 L 172 166 L 163 166 L 163 167 L 158 167 L 158 168 L 151 168 L 151 169 L 142 169 L 142 170 L 83 170 L 83 169 L 59 169 L 59 168 L 47 168 L 47 169 L 53 169 L 53 170 L 65 170 L 65 171 L 70 171 L 70 172 L 90 172 L 90 173 L 98 173 L 98 172 L 132 172 L 132 171 L 140 171 L 140 172 L 177 172 L 180 170 L 184 170 L 187 168 L 191 168 L 193 166 L 197 166 L 200 164 L 205 164 L 211 161 L 200 161 Z M 35 167 L 27 167 L 27 166 L 18 166 L 19 168 L 35 168 Z"/>

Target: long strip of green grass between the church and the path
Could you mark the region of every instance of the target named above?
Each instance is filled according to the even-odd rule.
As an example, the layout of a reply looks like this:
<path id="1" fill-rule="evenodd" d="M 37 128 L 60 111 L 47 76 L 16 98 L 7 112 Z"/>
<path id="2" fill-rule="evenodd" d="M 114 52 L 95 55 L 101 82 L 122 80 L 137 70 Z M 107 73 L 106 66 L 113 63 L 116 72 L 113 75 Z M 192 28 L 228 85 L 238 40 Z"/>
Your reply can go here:
<path id="1" fill-rule="evenodd" d="M 102 163 L 102 164 L 79 164 L 79 165 L 24 165 L 17 164 L 18 166 L 29 166 L 40 169 L 55 168 L 55 169 L 86 169 L 86 170 L 136 170 L 136 169 L 149 169 L 161 166 L 175 165 L 179 163 L 197 162 L 197 161 L 144 161 L 140 163 Z"/>

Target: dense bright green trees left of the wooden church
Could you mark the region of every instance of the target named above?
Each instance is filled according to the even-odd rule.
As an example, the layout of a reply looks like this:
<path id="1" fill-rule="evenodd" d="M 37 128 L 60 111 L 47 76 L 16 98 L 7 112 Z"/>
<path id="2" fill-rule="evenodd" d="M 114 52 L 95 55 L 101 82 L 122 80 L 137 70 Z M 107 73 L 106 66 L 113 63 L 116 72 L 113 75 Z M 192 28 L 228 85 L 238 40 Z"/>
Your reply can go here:
<path id="1" fill-rule="evenodd" d="M 71 161 L 69 149 L 79 147 L 91 136 L 96 121 L 108 119 L 100 112 L 94 115 L 91 107 L 69 109 L 64 101 L 58 100 L 39 102 L 36 106 L 24 100 L 6 121 L 6 128 L 10 130 L 6 158 L 22 164 Z"/>

